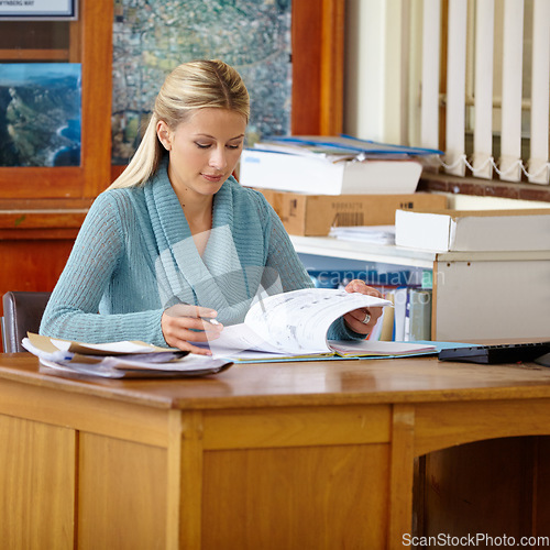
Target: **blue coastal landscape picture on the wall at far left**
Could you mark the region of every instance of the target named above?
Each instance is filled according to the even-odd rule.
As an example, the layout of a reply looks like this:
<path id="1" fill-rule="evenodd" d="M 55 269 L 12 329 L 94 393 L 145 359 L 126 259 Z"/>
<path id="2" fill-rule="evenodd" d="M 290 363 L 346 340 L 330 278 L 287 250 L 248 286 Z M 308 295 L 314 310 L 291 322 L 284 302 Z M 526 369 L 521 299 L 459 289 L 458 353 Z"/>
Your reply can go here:
<path id="1" fill-rule="evenodd" d="M 0 64 L 0 166 L 79 166 L 78 63 Z"/>

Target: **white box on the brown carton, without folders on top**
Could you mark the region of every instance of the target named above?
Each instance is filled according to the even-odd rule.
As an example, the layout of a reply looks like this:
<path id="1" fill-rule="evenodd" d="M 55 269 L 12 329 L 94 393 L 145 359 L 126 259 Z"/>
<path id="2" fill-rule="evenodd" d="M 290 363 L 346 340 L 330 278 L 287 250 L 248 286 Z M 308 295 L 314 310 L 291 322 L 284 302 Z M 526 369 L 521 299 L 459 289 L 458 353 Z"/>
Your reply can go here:
<path id="1" fill-rule="evenodd" d="M 245 187 L 316 195 L 407 195 L 415 193 L 417 161 L 342 161 L 244 150 L 239 182 Z"/>

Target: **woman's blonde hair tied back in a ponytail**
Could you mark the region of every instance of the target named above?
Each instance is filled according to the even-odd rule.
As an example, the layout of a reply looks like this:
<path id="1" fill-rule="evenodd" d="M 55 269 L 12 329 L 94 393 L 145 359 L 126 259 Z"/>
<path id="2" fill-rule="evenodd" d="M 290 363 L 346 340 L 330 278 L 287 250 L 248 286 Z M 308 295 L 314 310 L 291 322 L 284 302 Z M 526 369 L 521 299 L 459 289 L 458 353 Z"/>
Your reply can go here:
<path id="1" fill-rule="evenodd" d="M 155 173 L 165 153 L 156 134 L 158 121 L 175 130 L 197 109 L 207 107 L 239 112 L 249 122 L 249 92 L 239 73 L 218 59 L 195 61 L 176 67 L 156 97 L 138 151 L 109 189 L 143 185 Z"/>

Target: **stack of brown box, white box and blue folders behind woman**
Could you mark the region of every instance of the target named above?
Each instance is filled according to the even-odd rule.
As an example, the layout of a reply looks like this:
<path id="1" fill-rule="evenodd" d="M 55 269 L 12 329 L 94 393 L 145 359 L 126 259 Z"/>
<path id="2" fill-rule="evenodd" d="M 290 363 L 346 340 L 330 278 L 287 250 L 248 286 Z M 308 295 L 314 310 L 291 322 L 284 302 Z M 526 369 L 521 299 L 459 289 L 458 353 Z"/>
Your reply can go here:
<path id="1" fill-rule="evenodd" d="M 241 156 L 240 183 L 261 191 L 290 234 L 394 226 L 397 209 L 439 210 L 443 195 L 415 193 L 421 157 L 439 152 L 345 136 L 289 136 Z"/>

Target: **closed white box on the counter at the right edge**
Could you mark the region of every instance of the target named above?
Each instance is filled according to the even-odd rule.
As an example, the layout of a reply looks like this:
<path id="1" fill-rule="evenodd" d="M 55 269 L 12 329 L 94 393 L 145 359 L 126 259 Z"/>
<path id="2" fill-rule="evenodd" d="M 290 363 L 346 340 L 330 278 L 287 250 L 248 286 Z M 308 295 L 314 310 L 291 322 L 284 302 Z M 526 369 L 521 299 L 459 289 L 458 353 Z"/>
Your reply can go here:
<path id="1" fill-rule="evenodd" d="M 435 252 L 550 250 L 550 209 L 396 210 L 395 243 Z"/>

